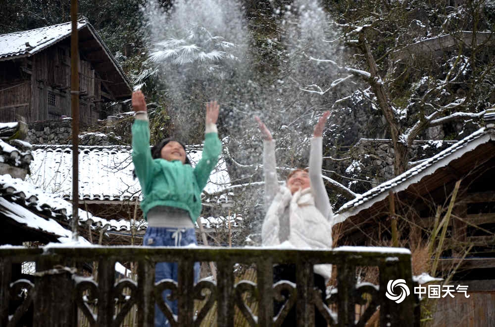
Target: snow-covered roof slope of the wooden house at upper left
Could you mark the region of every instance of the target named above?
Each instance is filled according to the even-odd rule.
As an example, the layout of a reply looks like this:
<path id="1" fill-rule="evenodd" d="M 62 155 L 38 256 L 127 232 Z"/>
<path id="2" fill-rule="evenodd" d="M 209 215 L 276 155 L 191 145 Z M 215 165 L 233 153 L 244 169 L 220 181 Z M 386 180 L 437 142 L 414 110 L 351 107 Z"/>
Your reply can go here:
<path id="1" fill-rule="evenodd" d="M 77 29 L 80 30 L 87 25 L 87 21 L 79 21 Z M 30 56 L 69 37 L 71 29 L 71 22 L 68 22 L 0 35 L 0 60 L 11 59 L 11 57 L 16 56 Z"/>

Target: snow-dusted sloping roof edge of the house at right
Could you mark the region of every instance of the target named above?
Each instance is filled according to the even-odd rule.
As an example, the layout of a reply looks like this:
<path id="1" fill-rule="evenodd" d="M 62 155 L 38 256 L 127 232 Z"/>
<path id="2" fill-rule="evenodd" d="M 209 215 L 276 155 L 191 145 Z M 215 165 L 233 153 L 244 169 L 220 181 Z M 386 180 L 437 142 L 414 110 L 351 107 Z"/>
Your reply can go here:
<path id="1" fill-rule="evenodd" d="M 433 174 L 437 169 L 446 166 L 452 160 L 460 158 L 465 153 L 474 150 L 480 144 L 490 140 L 495 141 L 495 128 L 493 125 L 477 130 L 430 159 L 427 159 L 395 178 L 358 195 L 355 199 L 339 208 L 334 223 L 343 222 L 347 217 L 355 215 L 361 210 L 369 208 L 373 204 L 384 200 L 391 190 L 394 193 L 405 190 L 409 185 L 420 181 L 425 176 Z"/>

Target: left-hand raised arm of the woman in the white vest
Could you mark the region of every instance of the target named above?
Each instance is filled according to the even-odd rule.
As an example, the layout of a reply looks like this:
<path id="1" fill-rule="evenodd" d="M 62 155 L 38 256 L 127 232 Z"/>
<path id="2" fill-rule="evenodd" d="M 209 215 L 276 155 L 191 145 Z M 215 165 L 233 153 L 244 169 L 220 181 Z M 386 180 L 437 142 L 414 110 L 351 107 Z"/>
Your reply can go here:
<path id="1" fill-rule="evenodd" d="M 263 173 L 265 176 L 265 206 L 266 209 L 270 206 L 279 190 L 277 180 L 277 168 L 275 159 L 275 140 L 272 138 L 272 134 L 266 128 L 265 124 L 261 122 L 259 117 L 255 116 L 254 119 L 258 123 L 261 138 L 263 138 Z"/>

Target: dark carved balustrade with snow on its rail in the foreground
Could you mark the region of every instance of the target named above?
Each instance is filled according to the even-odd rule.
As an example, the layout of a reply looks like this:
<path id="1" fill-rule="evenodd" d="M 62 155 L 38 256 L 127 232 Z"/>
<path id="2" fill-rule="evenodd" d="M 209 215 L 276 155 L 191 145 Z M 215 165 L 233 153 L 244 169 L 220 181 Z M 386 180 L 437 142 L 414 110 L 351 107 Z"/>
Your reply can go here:
<path id="1" fill-rule="evenodd" d="M 34 280 L 12 281 L 12 264 L 35 261 Z M 70 267 L 81 263 L 98 262 L 98 283 L 84 278 Z M 163 280 L 154 282 L 156 262 L 178 262 L 178 283 Z M 217 281 L 201 280 L 194 285 L 195 261 L 214 261 L 217 265 Z M 124 279 L 116 282 L 116 262 L 137 262 L 137 281 Z M 236 263 L 255 264 L 256 283 L 234 283 Z M 297 282 L 273 284 L 272 268 L 277 263 L 295 263 Z M 313 265 L 331 263 L 337 270 L 337 292 L 327 296 L 326 303 L 313 287 Z M 358 266 L 377 266 L 380 285 L 356 286 Z M 337 248 L 335 250 L 297 250 L 271 248 L 216 248 L 216 247 L 0 247 L 0 326 L 16 326 L 31 306 L 33 326 L 77 326 L 77 308 L 87 317 L 90 326 L 118 327 L 131 308 L 137 307 L 138 326 L 153 326 L 154 304 L 164 311 L 172 326 L 199 326 L 206 313 L 216 308 L 217 326 L 234 326 L 234 310 L 238 306 L 250 326 L 280 326 L 287 312 L 295 305 L 297 326 L 314 326 L 315 307 L 326 318 L 329 326 L 364 326 L 380 308 L 380 326 L 419 326 L 418 305 L 412 292 L 411 256 L 401 248 Z M 411 295 L 396 303 L 386 297 L 389 280 L 403 279 Z M 124 293 L 123 290 L 127 292 Z M 178 299 L 179 312 L 172 316 L 160 293 L 172 290 Z M 208 291 L 205 292 L 205 289 Z M 290 296 L 281 297 L 282 290 Z M 395 293 L 401 291 L 395 289 Z M 257 316 L 243 301 L 243 294 L 250 293 L 258 302 Z M 12 308 L 12 301 L 23 302 Z M 207 295 L 205 295 L 207 294 Z M 273 312 L 273 298 L 285 301 L 279 313 Z M 95 300 L 97 300 L 95 302 Z M 197 310 L 195 300 L 205 304 Z M 96 305 L 93 312 L 89 302 Z M 123 303 L 115 312 L 116 302 Z M 20 300 L 18 301 L 20 302 Z M 216 302 L 216 306 L 213 303 Z M 10 314 L 9 314 L 10 303 Z M 359 321 L 355 318 L 355 305 L 368 303 Z M 329 309 L 337 308 L 336 312 Z M 15 312 L 14 312 L 15 311 Z"/>

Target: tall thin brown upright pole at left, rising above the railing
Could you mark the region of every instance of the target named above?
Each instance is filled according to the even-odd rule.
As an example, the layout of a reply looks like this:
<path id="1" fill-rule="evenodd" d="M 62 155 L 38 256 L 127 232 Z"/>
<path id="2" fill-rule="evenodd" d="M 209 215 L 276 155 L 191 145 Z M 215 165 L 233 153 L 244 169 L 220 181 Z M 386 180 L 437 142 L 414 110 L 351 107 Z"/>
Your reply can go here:
<path id="1" fill-rule="evenodd" d="M 77 0 L 71 0 L 70 17 L 72 21 L 72 32 L 70 40 L 71 56 L 71 77 L 70 77 L 70 95 L 72 110 L 72 240 L 78 239 L 78 220 L 79 220 L 79 38 L 77 32 Z"/>

